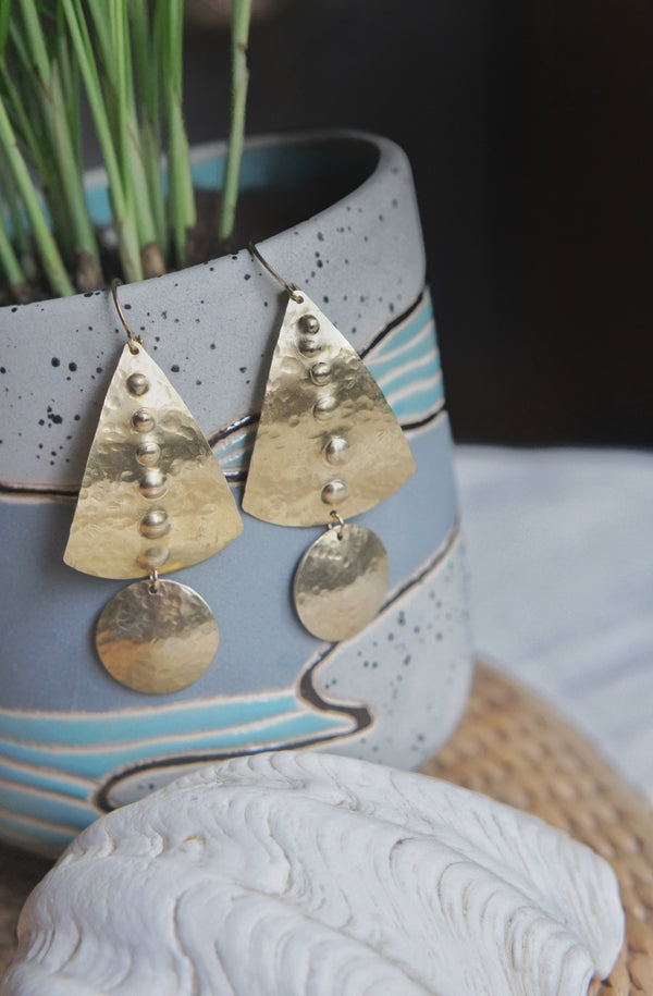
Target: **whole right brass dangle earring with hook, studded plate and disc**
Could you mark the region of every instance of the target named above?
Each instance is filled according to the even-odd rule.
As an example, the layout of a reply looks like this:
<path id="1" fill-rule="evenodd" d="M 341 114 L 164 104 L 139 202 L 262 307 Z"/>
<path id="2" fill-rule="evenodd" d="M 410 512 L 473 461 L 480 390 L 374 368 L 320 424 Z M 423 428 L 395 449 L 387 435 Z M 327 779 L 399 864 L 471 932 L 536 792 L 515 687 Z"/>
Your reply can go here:
<path id="1" fill-rule="evenodd" d="M 356 351 L 288 284 L 247 475 L 243 508 L 279 526 L 326 526 L 295 573 L 295 606 L 322 640 L 345 640 L 378 614 L 389 562 L 379 537 L 345 522 L 394 494 L 415 472 L 402 428 Z"/>

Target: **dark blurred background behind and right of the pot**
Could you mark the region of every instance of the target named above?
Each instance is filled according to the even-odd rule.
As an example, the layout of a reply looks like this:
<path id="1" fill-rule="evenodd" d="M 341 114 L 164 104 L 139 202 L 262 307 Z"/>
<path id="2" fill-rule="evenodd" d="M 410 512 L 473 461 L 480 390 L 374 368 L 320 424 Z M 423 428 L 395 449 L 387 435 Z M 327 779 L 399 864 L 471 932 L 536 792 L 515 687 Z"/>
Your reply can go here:
<path id="1" fill-rule="evenodd" d="M 229 39 L 187 40 L 192 140 Z M 653 444 L 650 0 L 291 0 L 254 26 L 250 134 L 408 152 L 458 440 Z"/>

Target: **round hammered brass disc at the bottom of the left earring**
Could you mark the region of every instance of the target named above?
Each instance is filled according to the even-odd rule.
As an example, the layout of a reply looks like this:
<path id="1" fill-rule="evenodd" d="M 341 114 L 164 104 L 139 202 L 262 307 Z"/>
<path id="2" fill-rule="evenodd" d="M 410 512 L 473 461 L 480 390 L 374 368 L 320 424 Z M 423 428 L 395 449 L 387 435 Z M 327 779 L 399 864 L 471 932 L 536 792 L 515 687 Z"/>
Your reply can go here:
<path id="1" fill-rule="evenodd" d="M 193 588 L 148 580 L 119 591 L 96 627 L 96 647 L 107 671 L 135 691 L 165 694 L 205 673 L 218 650 L 213 613 Z"/>

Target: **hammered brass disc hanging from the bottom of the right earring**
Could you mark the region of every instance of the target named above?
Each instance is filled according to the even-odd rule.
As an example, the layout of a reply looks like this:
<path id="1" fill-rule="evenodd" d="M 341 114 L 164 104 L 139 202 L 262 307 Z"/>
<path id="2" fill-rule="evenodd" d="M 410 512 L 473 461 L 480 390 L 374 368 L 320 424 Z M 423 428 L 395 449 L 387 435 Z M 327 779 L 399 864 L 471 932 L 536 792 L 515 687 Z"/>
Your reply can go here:
<path id="1" fill-rule="evenodd" d="M 374 532 L 352 525 L 329 529 L 299 561 L 297 614 L 320 640 L 348 640 L 377 616 L 389 576 L 387 554 Z"/>

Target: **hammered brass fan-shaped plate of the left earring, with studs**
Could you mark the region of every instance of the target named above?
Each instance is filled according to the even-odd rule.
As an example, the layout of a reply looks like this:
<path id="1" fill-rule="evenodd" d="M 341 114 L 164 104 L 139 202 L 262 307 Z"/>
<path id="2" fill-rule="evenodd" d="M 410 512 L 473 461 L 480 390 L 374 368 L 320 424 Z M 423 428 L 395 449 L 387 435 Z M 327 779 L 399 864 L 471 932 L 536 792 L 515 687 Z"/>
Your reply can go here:
<path id="1" fill-rule="evenodd" d="M 113 374 L 64 561 L 101 578 L 148 577 L 222 550 L 243 524 L 188 408 L 143 345 Z"/>

